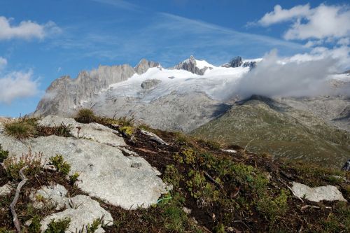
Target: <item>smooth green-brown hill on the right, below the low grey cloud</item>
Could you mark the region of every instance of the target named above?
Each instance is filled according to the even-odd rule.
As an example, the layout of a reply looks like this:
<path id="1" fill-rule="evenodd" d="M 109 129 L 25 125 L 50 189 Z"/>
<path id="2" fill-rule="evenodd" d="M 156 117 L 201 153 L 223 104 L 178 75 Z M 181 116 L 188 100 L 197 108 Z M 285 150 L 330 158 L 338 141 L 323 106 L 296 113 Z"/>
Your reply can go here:
<path id="1" fill-rule="evenodd" d="M 350 155 L 350 135 L 307 111 L 272 99 L 253 97 L 216 120 L 195 129 L 193 135 L 267 152 L 339 167 Z"/>

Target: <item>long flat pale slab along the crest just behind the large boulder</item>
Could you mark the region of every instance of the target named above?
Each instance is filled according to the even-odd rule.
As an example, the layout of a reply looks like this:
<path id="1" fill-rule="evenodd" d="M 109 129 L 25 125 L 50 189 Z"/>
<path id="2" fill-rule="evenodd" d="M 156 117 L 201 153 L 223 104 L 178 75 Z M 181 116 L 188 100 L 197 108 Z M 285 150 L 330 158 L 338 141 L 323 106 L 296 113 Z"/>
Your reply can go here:
<path id="1" fill-rule="evenodd" d="M 56 115 L 48 115 L 39 120 L 38 124 L 50 127 L 62 124 L 70 125 L 72 127 L 71 134 L 76 138 L 90 139 L 111 146 L 127 146 L 124 139 L 115 134 L 116 130 L 97 123 L 81 124 L 76 122 L 73 118 L 62 118 Z M 80 127 L 79 134 L 77 127 Z"/>

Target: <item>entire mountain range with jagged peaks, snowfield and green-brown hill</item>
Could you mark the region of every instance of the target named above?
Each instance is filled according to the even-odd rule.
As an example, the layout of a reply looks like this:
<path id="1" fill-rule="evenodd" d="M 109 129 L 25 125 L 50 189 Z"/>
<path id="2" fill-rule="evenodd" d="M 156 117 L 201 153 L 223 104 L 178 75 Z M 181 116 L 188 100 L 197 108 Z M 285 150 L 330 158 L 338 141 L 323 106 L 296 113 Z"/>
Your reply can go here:
<path id="1" fill-rule="evenodd" d="M 240 99 L 232 92 L 262 59 L 235 57 L 221 66 L 188 59 L 164 68 L 141 59 L 99 66 L 77 78 L 54 80 L 34 115 L 71 117 L 80 108 L 97 115 L 127 117 L 169 131 L 246 146 L 276 157 L 341 166 L 350 153 L 350 99 L 342 95 Z M 350 85 L 350 74 L 335 74 L 330 87 Z M 300 146 L 301 145 L 301 146 Z"/>

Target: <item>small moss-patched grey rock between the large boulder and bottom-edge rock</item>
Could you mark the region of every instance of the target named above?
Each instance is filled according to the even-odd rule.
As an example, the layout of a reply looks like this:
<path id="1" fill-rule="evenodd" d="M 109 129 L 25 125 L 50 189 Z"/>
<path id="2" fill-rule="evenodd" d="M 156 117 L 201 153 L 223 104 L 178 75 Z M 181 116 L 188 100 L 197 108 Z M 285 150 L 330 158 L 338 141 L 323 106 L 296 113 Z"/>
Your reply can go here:
<path id="1" fill-rule="evenodd" d="M 66 197 L 67 190 L 64 186 L 56 184 L 43 186 L 40 190 L 34 190 L 30 193 L 29 198 L 34 202 L 34 207 L 41 209 L 44 206 L 55 206 L 56 210 L 69 206 Z"/>

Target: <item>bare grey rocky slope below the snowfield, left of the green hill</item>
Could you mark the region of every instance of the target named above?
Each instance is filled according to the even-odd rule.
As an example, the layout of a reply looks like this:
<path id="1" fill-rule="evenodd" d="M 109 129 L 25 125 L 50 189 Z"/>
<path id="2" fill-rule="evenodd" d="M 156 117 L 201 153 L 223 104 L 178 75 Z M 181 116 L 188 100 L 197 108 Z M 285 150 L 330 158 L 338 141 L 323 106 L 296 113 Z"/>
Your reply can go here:
<path id="1" fill-rule="evenodd" d="M 95 113 L 116 118 L 126 115 L 157 129 L 183 132 L 196 129 L 229 108 L 229 104 L 215 101 L 207 94 L 198 92 L 171 93 L 149 103 L 140 102 L 136 98 L 113 97 L 106 97 L 103 105 L 92 103 Z"/>

